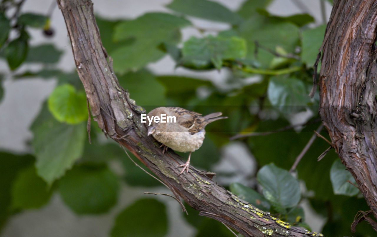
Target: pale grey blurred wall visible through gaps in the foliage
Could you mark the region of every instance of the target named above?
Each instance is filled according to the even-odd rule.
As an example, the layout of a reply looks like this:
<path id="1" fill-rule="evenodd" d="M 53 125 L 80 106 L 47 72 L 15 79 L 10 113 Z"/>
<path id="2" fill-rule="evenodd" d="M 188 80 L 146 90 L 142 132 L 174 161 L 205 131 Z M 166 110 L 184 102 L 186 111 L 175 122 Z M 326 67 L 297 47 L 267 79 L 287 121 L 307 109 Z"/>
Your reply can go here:
<path id="1" fill-rule="evenodd" d="M 230 9 L 236 10 L 243 0 L 213 0 L 222 3 Z M 38 12 L 46 14 L 53 0 L 26 0 L 22 12 Z M 165 11 L 164 8 L 171 0 L 93 0 L 95 12 L 105 18 L 135 18 L 149 11 Z M 321 23 L 320 0 L 275 0 L 268 10 L 272 14 L 291 15 L 302 13 L 303 10 L 297 7 L 294 2 L 302 3 L 306 10 L 310 11 L 318 23 Z M 331 6 L 326 2 L 327 18 L 331 12 Z M 222 23 L 191 18 L 196 26 L 202 28 L 227 29 L 229 26 Z M 45 38 L 40 30 L 32 30 L 31 44 L 54 43 L 64 55 L 58 66 L 66 71 L 72 71 L 75 67 L 69 39 L 67 38 L 66 26 L 58 8 L 55 8 L 51 21 L 55 29 L 55 36 Z M 200 35 L 194 28 L 184 29 L 182 32 L 184 40 L 192 35 Z M 174 62 L 166 56 L 160 61 L 150 64 L 150 70 L 156 74 L 196 74 L 208 79 L 216 78 L 216 83 L 221 83 L 225 78 L 226 71 L 216 70 L 205 73 L 193 73 L 192 71 L 178 68 L 174 70 Z M 18 71 L 26 69 L 37 69 L 38 66 L 23 65 Z M 6 73 L 3 81 L 5 95 L 0 103 L 0 149 L 11 152 L 30 152 L 25 142 L 32 138 L 29 131 L 34 117 L 40 110 L 41 102 L 54 89 L 56 82 L 43 79 L 12 80 L 6 62 L 0 60 L 0 71 Z M 20 96 L 20 94 L 22 96 Z M 237 144 L 235 144 L 237 145 Z M 232 148 L 234 149 L 234 148 Z M 243 149 L 239 147 L 238 149 Z M 116 169 L 117 164 L 114 164 Z M 55 194 L 51 202 L 39 210 L 27 210 L 13 216 L 6 224 L 0 237 L 106 237 L 113 225 L 117 213 L 124 207 L 131 204 L 140 196 L 146 197 L 144 191 L 164 192 L 166 190 L 156 188 L 129 188 L 125 185 L 121 188 L 120 200 L 110 213 L 100 216 L 77 216 L 70 211 Z M 195 234 L 195 230 L 182 219 L 182 213 L 175 200 L 166 196 L 154 196 L 167 205 L 169 220 L 169 237 L 189 237 Z M 304 205 L 305 211 L 310 212 L 308 205 Z M 318 231 L 323 225 L 323 220 L 311 214 L 307 222 Z M 179 234 L 178 234 L 179 233 Z"/>

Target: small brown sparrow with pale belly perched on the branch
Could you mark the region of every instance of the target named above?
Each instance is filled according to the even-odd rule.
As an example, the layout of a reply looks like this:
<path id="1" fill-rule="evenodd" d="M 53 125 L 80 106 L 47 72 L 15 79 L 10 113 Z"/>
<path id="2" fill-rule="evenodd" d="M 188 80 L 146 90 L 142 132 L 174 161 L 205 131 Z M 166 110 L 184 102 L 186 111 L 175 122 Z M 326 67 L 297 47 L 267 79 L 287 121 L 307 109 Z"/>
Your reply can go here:
<path id="1" fill-rule="evenodd" d="M 162 116 L 161 116 L 162 115 Z M 187 162 L 180 167 L 183 167 L 181 175 L 184 170 L 189 172 L 191 153 L 199 149 L 202 146 L 205 126 L 208 123 L 219 119 L 227 119 L 228 117 L 219 117 L 221 112 L 205 115 L 204 117 L 194 111 L 182 109 L 179 107 L 158 107 L 150 111 L 147 116 L 158 116 L 159 118 L 169 118 L 166 121 L 160 120 L 155 122 L 153 120 L 148 125 L 148 136 L 152 135 L 157 141 L 178 152 L 190 152 Z M 160 147 L 161 147 L 160 146 Z M 165 149 L 163 150 L 163 152 Z"/>

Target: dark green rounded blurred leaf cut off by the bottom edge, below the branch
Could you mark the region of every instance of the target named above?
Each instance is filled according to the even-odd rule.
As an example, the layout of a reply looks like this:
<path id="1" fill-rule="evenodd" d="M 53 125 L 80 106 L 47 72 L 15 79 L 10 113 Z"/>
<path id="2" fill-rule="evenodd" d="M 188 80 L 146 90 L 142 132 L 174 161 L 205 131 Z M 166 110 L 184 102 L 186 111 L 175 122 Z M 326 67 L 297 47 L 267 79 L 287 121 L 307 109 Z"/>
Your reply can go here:
<path id="1" fill-rule="evenodd" d="M 115 219 L 111 237 L 163 237 L 167 234 L 167 214 L 163 203 L 139 199 Z"/>

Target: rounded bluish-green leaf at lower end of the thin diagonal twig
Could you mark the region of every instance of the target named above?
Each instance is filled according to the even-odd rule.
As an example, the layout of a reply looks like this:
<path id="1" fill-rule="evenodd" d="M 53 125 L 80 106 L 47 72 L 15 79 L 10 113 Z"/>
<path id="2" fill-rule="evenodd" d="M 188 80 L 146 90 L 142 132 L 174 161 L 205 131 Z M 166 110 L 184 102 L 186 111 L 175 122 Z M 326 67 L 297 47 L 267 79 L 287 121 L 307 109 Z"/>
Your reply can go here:
<path id="1" fill-rule="evenodd" d="M 257 173 L 257 180 L 263 187 L 263 195 L 273 204 L 283 208 L 296 206 L 300 199 L 300 185 L 297 179 L 273 163 L 263 166 Z"/>

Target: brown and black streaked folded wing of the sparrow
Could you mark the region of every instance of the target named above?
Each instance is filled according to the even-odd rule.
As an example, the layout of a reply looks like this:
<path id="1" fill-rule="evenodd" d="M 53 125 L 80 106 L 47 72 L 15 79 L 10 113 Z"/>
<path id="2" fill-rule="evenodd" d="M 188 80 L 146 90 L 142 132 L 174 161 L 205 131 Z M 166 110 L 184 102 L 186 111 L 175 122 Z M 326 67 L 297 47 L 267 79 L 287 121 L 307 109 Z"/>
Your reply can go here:
<path id="1" fill-rule="evenodd" d="M 206 119 L 197 112 L 177 107 L 175 114 L 177 114 L 177 123 L 187 128 L 192 135 L 201 131 L 207 125 Z"/>

